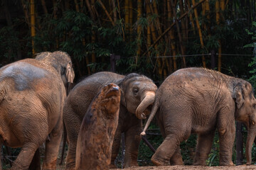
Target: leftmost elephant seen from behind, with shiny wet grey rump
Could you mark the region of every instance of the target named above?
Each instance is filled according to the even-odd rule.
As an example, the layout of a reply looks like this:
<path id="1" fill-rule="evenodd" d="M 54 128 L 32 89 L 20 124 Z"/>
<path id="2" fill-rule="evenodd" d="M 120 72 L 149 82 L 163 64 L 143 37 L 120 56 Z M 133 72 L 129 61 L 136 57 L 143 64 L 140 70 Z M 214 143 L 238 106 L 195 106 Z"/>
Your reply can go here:
<path id="1" fill-rule="evenodd" d="M 56 169 L 65 87 L 73 83 L 74 77 L 70 56 L 60 51 L 41 52 L 35 59 L 1 67 L 0 142 L 7 147 L 21 147 L 11 169 L 28 169 L 44 142 L 43 169 Z"/>

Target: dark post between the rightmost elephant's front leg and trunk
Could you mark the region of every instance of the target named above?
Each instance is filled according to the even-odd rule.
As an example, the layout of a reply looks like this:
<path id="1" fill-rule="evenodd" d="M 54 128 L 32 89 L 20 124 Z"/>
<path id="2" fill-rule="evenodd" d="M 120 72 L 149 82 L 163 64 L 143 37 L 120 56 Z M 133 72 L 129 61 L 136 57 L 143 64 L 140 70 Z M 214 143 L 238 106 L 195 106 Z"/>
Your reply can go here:
<path id="1" fill-rule="evenodd" d="M 243 142 L 242 142 L 242 123 L 237 122 L 236 123 L 236 165 L 241 165 L 242 164 L 242 159 L 243 159 Z"/>

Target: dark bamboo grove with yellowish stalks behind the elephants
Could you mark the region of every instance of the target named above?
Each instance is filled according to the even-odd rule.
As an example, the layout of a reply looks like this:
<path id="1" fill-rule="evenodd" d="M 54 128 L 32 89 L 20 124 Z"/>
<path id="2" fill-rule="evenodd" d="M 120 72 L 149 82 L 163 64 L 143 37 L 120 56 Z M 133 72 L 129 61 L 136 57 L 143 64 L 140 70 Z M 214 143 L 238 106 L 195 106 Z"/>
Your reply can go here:
<path id="1" fill-rule="evenodd" d="M 251 57 L 223 54 L 252 55 L 243 46 L 250 43 L 245 28 L 255 20 L 255 0 L 20 0 L 14 7 L 4 2 L 7 12 L 22 13 L 11 18 L 11 30 L 1 28 L 2 45 L 9 46 L 1 56 L 11 62 L 11 56 L 63 50 L 73 57 L 78 77 L 110 70 L 113 54 L 121 56 L 117 72 L 160 80 L 191 66 L 239 74 L 235 62 L 246 65 Z"/>

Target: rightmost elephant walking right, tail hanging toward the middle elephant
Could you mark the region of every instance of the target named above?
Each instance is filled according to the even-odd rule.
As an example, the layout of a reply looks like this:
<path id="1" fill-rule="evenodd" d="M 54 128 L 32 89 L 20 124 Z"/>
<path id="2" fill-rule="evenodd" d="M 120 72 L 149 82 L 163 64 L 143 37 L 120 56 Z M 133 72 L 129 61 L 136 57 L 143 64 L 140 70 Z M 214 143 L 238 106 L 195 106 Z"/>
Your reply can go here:
<path id="1" fill-rule="evenodd" d="M 233 166 L 235 120 L 247 125 L 247 164 L 251 164 L 256 135 L 256 100 L 248 81 L 198 67 L 178 69 L 156 91 L 151 114 L 141 135 L 156 115 L 164 142 L 151 162 L 180 164 L 179 145 L 191 133 L 198 134 L 194 165 L 206 165 L 215 130 L 220 141 L 220 166 Z"/>

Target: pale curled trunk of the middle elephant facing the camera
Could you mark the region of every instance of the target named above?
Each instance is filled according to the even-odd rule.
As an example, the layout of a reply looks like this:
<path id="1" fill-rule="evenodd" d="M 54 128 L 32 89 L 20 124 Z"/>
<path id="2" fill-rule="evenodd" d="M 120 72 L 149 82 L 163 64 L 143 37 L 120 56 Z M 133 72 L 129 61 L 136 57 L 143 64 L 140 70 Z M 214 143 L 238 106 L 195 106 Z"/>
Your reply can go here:
<path id="1" fill-rule="evenodd" d="M 136 116 L 139 119 L 145 119 L 146 115 L 143 113 L 149 105 L 154 103 L 155 99 L 155 92 L 154 91 L 146 91 L 145 94 L 142 97 L 142 102 L 139 104 L 139 106 L 136 109 Z"/>

